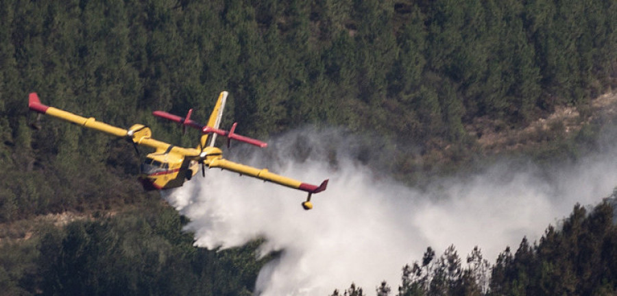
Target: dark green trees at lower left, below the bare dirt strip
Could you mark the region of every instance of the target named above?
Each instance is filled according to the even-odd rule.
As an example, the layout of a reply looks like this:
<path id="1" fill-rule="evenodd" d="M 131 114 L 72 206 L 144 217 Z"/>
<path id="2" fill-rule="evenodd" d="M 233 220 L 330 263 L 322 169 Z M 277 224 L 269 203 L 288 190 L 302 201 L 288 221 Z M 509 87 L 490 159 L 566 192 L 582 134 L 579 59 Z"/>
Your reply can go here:
<path id="1" fill-rule="evenodd" d="M 161 204 L 0 244 L 2 293 L 250 295 L 265 261 L 256 260 L 258 242 L 226 251 L 193 247 L 182 218 Z"/>

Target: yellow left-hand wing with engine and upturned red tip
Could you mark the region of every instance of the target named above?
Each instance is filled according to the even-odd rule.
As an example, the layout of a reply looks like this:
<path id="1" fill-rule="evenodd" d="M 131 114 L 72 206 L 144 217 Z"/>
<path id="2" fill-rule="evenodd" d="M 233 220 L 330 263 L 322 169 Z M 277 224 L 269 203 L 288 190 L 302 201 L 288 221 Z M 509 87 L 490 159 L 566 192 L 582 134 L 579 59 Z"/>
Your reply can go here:
<path id="1" fill-rule="evenodd" d="M 38 95 L 36 93 L 30 93 L 28 98 L 28 108 L 40 114 L 53 116 L 64 121 L 69 121 L 70 123 L 75 123 L 76 125 L 90 128 L 92 130 L 97 130 L 99 132 L 104 132 L 106 134 L 110 134 L 112 136 L 117 136 L 120 138 L 126 138 L 135 145 L 151 147 L 156 149 L 157 151 L 162 150 L 180 153 L 184 156 L 199 156 L 200 151 L 197 149 L 177 147 L 169 143 L 153 139 L 152 132 L 150 131 L 149 127 L 146 127 L 145 125 L 133 125 L 128 130 L 125 130 L 121 127 L 114 127 L 113 125 L 108 125 L 107 123 L 97 121 L 94 117 L 86 118 L 73 114 L 71 112 L 60 110 L 58 108 L 45 106 L 40 103 L 40 99 L 38 99 Z"/>

